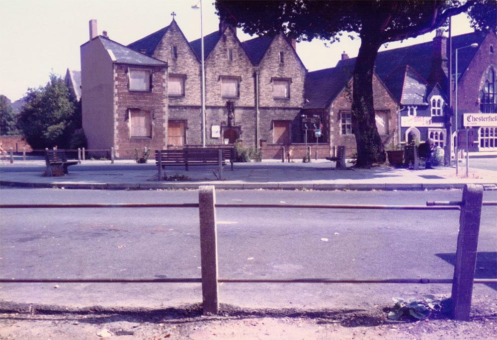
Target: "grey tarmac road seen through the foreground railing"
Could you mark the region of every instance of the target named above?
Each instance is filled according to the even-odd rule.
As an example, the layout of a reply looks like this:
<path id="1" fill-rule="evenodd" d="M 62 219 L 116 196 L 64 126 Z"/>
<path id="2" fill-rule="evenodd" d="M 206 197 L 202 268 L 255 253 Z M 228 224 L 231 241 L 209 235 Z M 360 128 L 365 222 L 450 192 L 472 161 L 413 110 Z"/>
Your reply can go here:
<path id="1" fill-rule="evenodd" d="M 1 188 L 7 203 L 197 202 L 196 191 Z M 425 204 L 461 191 L 218 191 L 219 203 Z M 484 201 L 496 201 L 485 192 Z M 496 278 L 495 207 L 484 207 L 477 277 Z M 457 211 L 219 209 L 223 278 L 451 278 Z M 200 277 L 198 212 L 185 209 L 2 209 L 1 277 Z M 4 301 L 64 306 L 177 306 L 200 284 L 11 284 Z M 221 284 L 220 302 L 248 308 L 367 309 L 394 296 L 450 295 L 450 285 Z M 496 287 L 475 285 L 477 298 Z"/>

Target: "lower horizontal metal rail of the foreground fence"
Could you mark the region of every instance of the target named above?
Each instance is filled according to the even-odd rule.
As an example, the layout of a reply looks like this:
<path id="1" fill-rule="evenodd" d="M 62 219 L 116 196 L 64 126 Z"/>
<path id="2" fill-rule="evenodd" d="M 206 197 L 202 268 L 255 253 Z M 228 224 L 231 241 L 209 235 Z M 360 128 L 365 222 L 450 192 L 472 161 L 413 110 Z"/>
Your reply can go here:
<path id="1" fill-rule="evenodd" d="M 219 278 L 219 283 L 406 283 L 448 284 L 451 278 Z M 201 283 L 202 278 L 0 278 L 0 283 Z M 473 283 L 497 284 L 497 278 L 475 278 Z"/>

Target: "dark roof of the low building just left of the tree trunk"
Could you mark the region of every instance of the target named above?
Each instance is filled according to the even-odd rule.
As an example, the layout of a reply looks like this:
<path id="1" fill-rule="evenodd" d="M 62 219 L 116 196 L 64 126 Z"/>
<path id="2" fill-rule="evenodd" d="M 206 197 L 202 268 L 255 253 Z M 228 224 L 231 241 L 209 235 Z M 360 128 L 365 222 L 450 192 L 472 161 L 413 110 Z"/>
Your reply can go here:
<path id="1" fill-rule="evenodd" d="M 325 68 L 308 72 L 304 83 L 304 109 L 327 108 L 351 78 L 350 68 Z"/>

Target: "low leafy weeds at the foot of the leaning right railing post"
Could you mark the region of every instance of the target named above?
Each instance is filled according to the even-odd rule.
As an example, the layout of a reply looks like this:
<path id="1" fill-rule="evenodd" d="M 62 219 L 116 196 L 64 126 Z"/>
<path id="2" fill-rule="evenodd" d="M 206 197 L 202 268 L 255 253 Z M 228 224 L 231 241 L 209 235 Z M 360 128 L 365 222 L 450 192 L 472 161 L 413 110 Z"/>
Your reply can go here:
<path id="1" fill-rule="evenodd" d="M 394 297 L 392 300 L 395 302 L 395 306 L 388 313 L 388 318 L 391 320 L 405 317 L 423 320 L 429 317 L 433 311 L 442 310 L 442 301 L 433 295 L 424 295 L 422 299 L 418 300 L 404 300 L 400 297 Z"/>

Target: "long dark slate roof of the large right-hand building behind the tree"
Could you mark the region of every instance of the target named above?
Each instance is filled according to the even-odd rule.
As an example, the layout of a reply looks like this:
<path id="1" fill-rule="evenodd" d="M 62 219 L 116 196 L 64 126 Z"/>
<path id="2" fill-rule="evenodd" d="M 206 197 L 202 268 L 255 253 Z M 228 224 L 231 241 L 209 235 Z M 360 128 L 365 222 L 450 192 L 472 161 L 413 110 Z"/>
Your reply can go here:
<path id="1" fill-rule="evenodd" d="M 455 58 L 455 49 L 478 43 L 485 39 L 486 33 L 473 32 L 452 37 L 452 55 Z M 449 56 L 447 42 L 447 56 Z M 376 58 L 376 73 L 385 81 L 386 77 L 396 68 L 409 65 L 423 79 L 428 79 L 431 72 L 431 57 L 433 51 L 433 41 L 401 47 L 393 50 L 378 53 Z M 462 75 L 473 60 L 477 48 L 467 48 L 458 52 L 458 71 Z M 340 60 L 337 66 L 354 67 L 356 58 Z"/>

